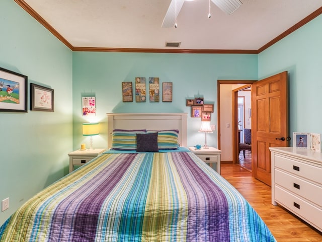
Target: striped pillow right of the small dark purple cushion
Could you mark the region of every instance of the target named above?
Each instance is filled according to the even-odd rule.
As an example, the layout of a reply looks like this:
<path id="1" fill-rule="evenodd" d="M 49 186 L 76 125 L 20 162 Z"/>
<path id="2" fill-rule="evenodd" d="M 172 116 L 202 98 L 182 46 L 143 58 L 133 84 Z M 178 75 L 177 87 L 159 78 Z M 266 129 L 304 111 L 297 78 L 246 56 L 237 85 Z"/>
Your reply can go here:
<path id="1" fill-rule="evenodd" d="M 180 144 L 178 140 L 179 130 L 148 130 L 147 134 L 158 132 L 157 147 L 159 150 L 175 150 Z"/>

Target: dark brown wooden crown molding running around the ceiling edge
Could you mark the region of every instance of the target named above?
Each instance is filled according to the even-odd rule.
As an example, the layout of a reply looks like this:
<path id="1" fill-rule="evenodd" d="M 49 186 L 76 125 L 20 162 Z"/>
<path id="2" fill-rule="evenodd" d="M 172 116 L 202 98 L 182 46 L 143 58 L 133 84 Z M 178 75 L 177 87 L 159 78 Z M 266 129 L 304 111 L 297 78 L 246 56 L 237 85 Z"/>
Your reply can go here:
<path id="1" fill-rule="evenodd" d="M 72 46 L 61 34 L 59 34 L 46 20 L 44 20 L 35 10 L 33 10 L 24 0 L 14 0 L 21 8 L 29 13 L 34 19 L 42 24 L 49 32 L 58 38 L 72 51 L 92 51 L 92 52 L 140 52 L 140 53 L 194 53 L 194 54 L 259 54 L 280 41 L 287 35 L 293 33 L 312 19 L 322 14 L 322 7 L 302 19 L 282 34 L 263 45 L 258 50 L 243 49 L 146 49 L 146 48 L 108 48 L 108 47 L 77 47 Z"/>

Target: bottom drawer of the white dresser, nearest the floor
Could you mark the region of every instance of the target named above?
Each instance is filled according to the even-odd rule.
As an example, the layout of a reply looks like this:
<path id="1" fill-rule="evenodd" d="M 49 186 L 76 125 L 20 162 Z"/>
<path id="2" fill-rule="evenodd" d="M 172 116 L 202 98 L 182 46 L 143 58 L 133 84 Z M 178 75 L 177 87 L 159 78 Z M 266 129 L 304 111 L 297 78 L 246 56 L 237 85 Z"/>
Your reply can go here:
<path id="1" fill-rule="evenodd" d="M 322 231 L 322 210 L 295 197 L 280 187 L 275 187 L 275 201 Z"/>

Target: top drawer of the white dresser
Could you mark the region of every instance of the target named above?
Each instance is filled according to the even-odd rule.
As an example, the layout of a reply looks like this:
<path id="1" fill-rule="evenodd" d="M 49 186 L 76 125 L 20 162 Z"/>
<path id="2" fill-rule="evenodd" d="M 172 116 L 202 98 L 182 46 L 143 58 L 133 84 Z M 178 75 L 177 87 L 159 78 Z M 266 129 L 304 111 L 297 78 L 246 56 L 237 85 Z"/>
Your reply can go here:
<path id="1" fill-rule="evenodd" d="M 305 177 L 322 185 L 322 168 L 291 160 L 287 157 L 275 155 L 275 167 L 281 168 L 295 175 Z"/>

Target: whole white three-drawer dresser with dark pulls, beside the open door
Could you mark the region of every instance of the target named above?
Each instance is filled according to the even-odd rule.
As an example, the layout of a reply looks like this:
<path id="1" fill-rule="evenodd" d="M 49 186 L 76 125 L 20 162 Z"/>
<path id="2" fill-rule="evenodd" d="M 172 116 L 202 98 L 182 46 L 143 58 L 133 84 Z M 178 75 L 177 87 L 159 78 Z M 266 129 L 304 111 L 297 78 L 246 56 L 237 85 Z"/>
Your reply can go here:
<path id="1" fill-rule="evenodd" d="M 322 231 L 322 154 L 271 147 L 272 204 L 281 205 Z"/>

